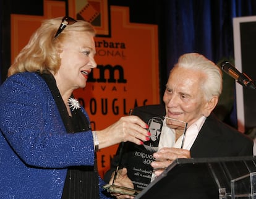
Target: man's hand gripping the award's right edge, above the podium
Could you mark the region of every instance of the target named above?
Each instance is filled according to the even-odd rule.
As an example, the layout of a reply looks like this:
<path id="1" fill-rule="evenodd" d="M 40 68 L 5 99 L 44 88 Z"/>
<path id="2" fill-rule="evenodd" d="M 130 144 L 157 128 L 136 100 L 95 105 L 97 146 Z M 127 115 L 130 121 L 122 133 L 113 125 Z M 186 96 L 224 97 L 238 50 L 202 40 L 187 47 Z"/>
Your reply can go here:
<path id="1" fill-rule="evenodd" d="M 190 151 L 182 148 L 161 148 L 153 154 L 156 161 L 151 163 L 156 176 L 159 176 L 177 158 L 190 158 Z"/>

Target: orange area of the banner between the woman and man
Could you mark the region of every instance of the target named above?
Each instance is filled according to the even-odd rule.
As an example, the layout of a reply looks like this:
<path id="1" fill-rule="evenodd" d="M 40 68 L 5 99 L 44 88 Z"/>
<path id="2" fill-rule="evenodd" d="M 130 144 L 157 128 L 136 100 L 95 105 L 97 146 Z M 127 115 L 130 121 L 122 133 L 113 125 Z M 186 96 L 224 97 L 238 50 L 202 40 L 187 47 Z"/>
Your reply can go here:
<path id="1" fill-rule="evenodd" d="M 127 115 L 136 103 L 138 106 L 160 103 L 157 26 L 130 23 L 127 7 L 111 6 L 110 10 L 111 38 L 95 38 L 95 60 L 98 66 L 121 66 L 127 82 L 87 82 L 85 89 L 75 91 L 75 97 L 85 101 L 85 109 L 92 121 L 92 127 L 96 130 L 103 129 L 121 116 Z M 111 44 L 119 48 L 110 48 Z M 93 70 L 93 77 L 100 77 L 99 69 Z M 117 71 L 114 77 L 118 79 Z M 108 80 L 108 72 L 105 72 L 105 78 Z M 96 112 L 90 112 L 90 109 Z M 107 114 L 103 114 L 102 110 L 106 109 Z M 114 112 L 117 109 L 118 114 Z M 117 145 L 98 152 L 101 176 L 109 169 L 116 148 Z"/>

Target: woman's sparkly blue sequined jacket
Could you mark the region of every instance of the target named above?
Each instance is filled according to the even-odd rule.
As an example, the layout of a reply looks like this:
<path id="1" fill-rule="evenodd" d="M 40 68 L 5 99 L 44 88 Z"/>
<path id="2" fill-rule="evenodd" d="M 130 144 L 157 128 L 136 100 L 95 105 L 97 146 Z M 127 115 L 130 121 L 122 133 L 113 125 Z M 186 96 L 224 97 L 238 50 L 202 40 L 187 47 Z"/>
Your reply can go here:
<path id="1" fill-rule="evenodd" d="M 66 132 L 36 73 L 12 75 L 1 85 L 0 129 L 0 198 L 61 198 L 66 168 L 94 164 L 92 132 Z"/>

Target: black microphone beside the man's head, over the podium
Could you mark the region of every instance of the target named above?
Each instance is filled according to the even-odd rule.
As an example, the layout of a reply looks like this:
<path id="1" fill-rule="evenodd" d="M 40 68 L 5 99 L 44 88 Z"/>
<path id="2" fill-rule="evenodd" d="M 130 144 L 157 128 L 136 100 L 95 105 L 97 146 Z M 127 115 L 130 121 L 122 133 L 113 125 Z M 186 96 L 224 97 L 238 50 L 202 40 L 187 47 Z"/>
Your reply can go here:
<path id="1" fill-rule="evenodd" d="M 232 64 L 228 61 L 221 62 L 221 69 L 226 72 L 226 74 L 233 77 L 237 83 L 240 83 L 244 87 L 249 87 L 252 89 L 256 89 L 254 81 L 248 77 L 245 73 L 239 72 Z"/>

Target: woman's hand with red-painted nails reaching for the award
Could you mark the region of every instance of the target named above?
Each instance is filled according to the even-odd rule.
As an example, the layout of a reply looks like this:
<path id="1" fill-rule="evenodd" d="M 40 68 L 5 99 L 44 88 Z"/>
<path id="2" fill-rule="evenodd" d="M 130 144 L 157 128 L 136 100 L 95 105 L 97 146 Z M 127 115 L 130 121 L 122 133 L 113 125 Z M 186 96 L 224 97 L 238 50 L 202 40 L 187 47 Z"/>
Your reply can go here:
<path id="1" fill-rule="evenodd" d="M 142 145 L 150 136 L 148 125 L 137 116 L 121 117 L 106 129 L 97 130 L 96 134 L 99 149 L 127 141 Z"/>

